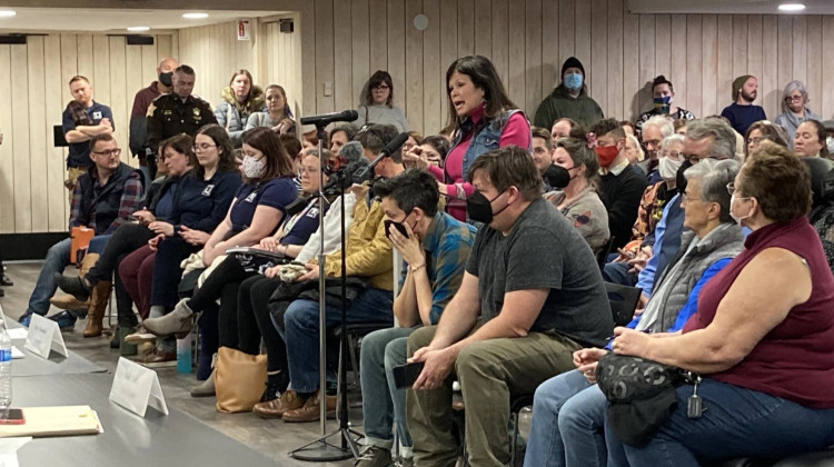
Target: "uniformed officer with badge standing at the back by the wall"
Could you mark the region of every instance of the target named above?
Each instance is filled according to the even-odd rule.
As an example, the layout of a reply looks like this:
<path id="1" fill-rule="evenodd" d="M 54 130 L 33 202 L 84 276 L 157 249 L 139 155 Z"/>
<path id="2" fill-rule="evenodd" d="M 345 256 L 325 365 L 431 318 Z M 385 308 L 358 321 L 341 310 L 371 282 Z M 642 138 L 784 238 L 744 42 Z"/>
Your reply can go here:
<path id="1" fill-rule="evenodd" d="M 172 92 L 161 95 L 148 107 L 148 168 L 151 179 L 156 177 L 156 152 L 159 143 L 175 135 L 193 137 L 200 127 L 217 123 L 211 106 L 192 96 L 196 73 L 193 68 L 181 64 L 173 70 Z M 153 163 L 151 165 L 151 160 Z"/>

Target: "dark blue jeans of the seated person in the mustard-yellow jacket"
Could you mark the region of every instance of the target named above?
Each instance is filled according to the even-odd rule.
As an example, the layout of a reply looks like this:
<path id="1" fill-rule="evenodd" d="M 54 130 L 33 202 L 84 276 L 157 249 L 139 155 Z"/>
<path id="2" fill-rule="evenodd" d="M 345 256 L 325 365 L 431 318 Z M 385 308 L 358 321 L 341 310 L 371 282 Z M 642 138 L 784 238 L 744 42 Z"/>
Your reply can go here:
<path id="1" fill-rule="evenodd" d="M 318 301 L 295 300 L 284 315 L 284 341 L 287 342 L 289 379 L 297 393 L 315 393 L 319 382 Z M 347 309 L 348 322 L 394 324 L 394 298 L 383 289 L 367 289 Z M 341 322 L 341 307 L 325 308 L 325 325 Z M 281 332 L 281 329 L 278 329 Z"/>

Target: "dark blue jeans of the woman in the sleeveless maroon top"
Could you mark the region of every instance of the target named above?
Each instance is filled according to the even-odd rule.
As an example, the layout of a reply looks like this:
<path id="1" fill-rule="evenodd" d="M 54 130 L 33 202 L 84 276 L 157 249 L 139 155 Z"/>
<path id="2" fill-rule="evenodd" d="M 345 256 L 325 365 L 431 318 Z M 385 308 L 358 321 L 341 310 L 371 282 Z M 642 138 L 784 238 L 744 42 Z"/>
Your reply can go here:
<path id="1" fill-rule="evenodd" d="M 686 416 L 693 388 L 677 388 L 677 409 L 643 448 L 623 445 L 609 433 L 610 447 L 623 448 L 633 466 L 692 466 L 733 457 L 786 457 L 834 444 L 834 409 L 812 409 L 780 397 L 705 379 L 698 385 L 704 414 Z M 616 461 L 616 459 L 614 459 Z M 610 465 L 624 465 L 622 461 Z M 627 464 L 625 464 L 627 465 Z"/>

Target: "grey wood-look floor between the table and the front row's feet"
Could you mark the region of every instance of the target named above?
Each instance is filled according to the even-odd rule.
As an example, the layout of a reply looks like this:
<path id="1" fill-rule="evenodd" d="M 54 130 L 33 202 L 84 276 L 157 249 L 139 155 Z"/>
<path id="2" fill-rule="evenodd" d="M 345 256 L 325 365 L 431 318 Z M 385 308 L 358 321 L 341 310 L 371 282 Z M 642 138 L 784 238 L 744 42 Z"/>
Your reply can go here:
<path id="1" fill-rule="evenodd" d="M 0 298 L 0 305 L 2 305 L 7 316 L 17 320 L 26 311 L 29 295 L 40 271 L 40 262 L 7 262 L 6 266 L 7 274 L 14 281 L 14 286 L 3 288 L 6 297 Z M 68 271 L 71 270 L 68 269 Z M 58 309 L 52 308 L 49 314 L 52 315 L 58 311 Z M 113 324 L 116 322 L 115 319 L 116 317 L 113 317 Z M 105 318 L 105 325 L 107 325 L 107 318 Z M 85 321 L 79 320 L 76 324 L 75 331 L 63 334 L 67 347 L 111 371 L 115 370 L 119 358 L 118 350 L 110 349 L 108 346 L 109 338 L 85 339 L 81 335 L 83 326 Z M 274 458 L 277 465 L 312 465 L 311 463 L 296 460 L 289 457 L 287 453 L 320 436 L 321 428 L 318 423 L 285 424 L 281 420 L 264 420 L 252 414 L 219 414 L 215 410 L 215 398 L 196 399 L 190 397 L 191 387 L 198 384 L 193 375 L 179 375 L 176 368 L 159 369 L 157 372 L 169 407 L 182 410 L 252 449 Z M 361 408 L 357 405 L 357 403 L 350 405 L 349 418 L 355 428 L 361 429 L 358 426 L 361 423 Z M 336 428 L 335 420 L 328 421 L 328 433 Z M 338 443 L 336 437 L 330 440 Z M 206 448 L 210 449 L 210 447 Z M 353 466 L 354 461 L 344 460 L 322 465 Z"/>

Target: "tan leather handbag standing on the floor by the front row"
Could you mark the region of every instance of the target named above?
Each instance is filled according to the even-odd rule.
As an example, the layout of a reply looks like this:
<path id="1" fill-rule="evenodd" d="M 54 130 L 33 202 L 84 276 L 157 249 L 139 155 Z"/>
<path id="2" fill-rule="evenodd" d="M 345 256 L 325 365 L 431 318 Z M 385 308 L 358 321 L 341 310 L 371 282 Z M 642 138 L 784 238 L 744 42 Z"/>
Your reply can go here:
<path id="1" fill-rule="evenodd" d="M 215 390 L 217 411 L 251 411 L 264 395 L 267 382 L 267 356 L 249 355 L 229 347 L 217 351 Z"/>

